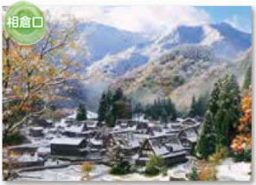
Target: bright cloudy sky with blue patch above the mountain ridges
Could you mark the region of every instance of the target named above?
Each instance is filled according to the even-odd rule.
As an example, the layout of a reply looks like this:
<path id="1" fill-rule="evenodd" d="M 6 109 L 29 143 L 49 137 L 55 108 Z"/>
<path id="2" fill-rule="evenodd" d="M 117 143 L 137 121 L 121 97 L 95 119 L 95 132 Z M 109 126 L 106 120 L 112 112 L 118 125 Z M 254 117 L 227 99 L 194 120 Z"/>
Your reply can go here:
<path id="1" fill-rule="evenodd" d="M 251 8 L 230 6 L 62 6 L 48 7 L 56 16 L 71 13 L 82 21 L 95 21 L 132 32 L 151 33 L 177 25 L 228 22 L 251 33 Z"/>

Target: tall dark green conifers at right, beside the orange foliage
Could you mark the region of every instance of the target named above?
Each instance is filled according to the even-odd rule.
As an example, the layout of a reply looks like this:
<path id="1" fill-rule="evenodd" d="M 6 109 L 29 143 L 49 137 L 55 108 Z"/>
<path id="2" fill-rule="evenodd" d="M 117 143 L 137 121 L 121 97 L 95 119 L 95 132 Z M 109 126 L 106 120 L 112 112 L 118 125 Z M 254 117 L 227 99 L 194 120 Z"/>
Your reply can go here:
<path id="1" fill-rule="evenodd" d="M 240 91 L 234 75 L 227 75 L 214 84 L 196 144 L 198 156 L 207 158 L 221 146 L 228 146 L 234 138 L 235 123 L 240 118 Z"/>

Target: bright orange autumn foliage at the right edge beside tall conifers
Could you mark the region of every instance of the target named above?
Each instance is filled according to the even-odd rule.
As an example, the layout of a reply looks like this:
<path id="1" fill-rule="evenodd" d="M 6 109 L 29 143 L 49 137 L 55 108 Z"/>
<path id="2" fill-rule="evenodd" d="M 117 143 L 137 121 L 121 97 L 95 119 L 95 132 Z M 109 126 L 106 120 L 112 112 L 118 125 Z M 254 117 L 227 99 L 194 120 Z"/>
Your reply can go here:
<path id="1" fill-rule="evenodd" d="M 252 149 L 252 88 L 245 94 L 241 102 L 243 117 L 237 127 L 238 135 L 234 138 L 231 148 L 235 152 Z"/>

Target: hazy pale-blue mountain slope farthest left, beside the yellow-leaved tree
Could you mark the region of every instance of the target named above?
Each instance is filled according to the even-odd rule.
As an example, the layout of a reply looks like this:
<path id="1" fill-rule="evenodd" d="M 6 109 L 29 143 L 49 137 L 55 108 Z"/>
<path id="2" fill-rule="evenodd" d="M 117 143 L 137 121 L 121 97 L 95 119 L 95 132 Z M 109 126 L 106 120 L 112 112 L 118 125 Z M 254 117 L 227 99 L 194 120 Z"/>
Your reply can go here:
<path id="1" fill-rule="evenodd" d="M 97 22 L 78 22 L 77 42 L 86 54 L 78 60 L 85 67 L 99 61 L 107 55 L 118 54 L 127 48 L 148 41 L 144 35 L 116 29 Z"/>

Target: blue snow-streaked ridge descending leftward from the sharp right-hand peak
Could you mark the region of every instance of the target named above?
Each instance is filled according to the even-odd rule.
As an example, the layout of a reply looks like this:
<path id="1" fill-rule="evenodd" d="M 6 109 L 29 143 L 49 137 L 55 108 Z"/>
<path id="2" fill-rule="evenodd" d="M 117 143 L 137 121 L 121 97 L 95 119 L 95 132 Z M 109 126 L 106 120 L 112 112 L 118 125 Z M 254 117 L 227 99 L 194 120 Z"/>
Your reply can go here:
<path id="1" fill-rule="evenodd" d="M 234 59 L 250 48 L 251 37 L 225 22 L 200 26 L 181 25 L 166 30 L 152 41 L 140 41 L 118 54 L 107 54 L 102 60 L 93 62 L 87 72 L 114 79 L 184 44 L 207 46 L 215 58 Z"/>

